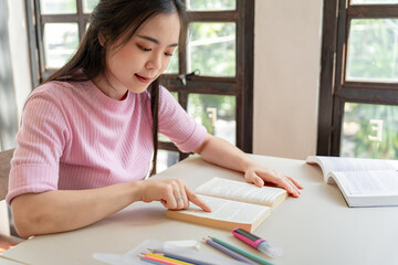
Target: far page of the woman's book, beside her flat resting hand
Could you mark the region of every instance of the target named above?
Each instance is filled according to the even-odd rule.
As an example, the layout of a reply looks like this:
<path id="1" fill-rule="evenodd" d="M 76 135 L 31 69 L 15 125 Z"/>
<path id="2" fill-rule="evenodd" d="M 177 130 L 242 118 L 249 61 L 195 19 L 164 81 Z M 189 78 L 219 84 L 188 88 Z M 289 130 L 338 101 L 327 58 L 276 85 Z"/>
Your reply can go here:
<path id="1" fill-rule="evenodd" d="M 281 188 L 259 188 L 248 182 L 227 180 L 217 177 L 197 188 L 195 192 L 262 205 L 272 205 L 279 197 L 286 194 L 286 191 Z"/>

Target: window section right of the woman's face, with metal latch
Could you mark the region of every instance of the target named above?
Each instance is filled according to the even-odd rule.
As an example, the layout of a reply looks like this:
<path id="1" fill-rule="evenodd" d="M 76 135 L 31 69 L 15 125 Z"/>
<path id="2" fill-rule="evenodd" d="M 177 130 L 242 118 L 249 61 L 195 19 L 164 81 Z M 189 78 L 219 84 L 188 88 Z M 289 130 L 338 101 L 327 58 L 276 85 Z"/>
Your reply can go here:
<path id="1" fill-rule="evenodd" d="M 252 151 L 253 0 L 187 0 L 189 41 L 165 76 L 181 106 L 212 135 Z M 178 71 L 178 72 L 177 72 Z M 176 161 L 187 157 L 163 140 Z M 177 155 L 176 155 L 177 153 Z"/>

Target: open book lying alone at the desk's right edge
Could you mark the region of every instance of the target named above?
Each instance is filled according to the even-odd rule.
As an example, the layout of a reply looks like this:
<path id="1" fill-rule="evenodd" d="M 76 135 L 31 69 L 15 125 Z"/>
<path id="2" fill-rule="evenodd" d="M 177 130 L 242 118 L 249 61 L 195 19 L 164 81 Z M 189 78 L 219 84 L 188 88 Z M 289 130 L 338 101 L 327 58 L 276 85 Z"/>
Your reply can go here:
<path id="1" fill-rule="evenodd" d="M 348 206 L 398 205 L 398 160 L 308 156 L 324 181 L 337 183 Z"/>

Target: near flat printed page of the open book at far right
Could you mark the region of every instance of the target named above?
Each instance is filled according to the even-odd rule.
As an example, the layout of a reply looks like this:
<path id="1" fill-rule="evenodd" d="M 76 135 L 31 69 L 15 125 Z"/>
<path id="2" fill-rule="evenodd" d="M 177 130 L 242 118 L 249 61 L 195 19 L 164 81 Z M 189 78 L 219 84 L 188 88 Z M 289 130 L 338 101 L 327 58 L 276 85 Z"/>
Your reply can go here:
<path id="1" fill-rule="evenodd" d="M 395 170 L 333 172 L 337 184 L 349 195 L 398 195 Z"/>

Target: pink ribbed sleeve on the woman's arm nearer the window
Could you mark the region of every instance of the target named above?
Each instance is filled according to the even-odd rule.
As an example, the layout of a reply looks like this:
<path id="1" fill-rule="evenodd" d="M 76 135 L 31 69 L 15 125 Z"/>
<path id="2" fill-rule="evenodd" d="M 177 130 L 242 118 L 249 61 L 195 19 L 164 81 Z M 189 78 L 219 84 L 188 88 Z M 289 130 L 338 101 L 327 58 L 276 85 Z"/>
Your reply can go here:
<path id="1" fill-rule="evenodd" d="M 197 149 L 207 135 L 206 128 L 197 124 L 163 86 L 159 89 L 159 132 L 184 152 Z"/>

